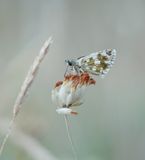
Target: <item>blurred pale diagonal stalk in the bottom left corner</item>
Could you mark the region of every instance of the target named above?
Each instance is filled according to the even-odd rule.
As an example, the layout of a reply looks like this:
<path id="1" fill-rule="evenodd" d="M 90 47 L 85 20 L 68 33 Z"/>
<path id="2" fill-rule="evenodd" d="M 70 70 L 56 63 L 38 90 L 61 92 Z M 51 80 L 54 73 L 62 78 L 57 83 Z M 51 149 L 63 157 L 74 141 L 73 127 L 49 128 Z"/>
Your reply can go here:
<path id="1" fill-rule="evenodd" d="M 5 133 L 8 125 L 7 119 L 0 118 L 0 132 Z M 10 136 L 11 141 L 23 149 L 34 160 L 58 160 L 47 148 L 40 144 L 34 137 L 23 133 L 15 125 Z"/>

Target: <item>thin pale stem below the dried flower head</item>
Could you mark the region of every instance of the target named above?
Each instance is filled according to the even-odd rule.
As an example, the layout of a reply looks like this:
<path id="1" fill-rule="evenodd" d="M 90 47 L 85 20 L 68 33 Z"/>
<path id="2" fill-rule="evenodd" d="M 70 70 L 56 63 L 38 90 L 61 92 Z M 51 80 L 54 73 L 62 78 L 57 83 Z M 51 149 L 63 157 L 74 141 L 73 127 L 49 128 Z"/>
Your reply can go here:
<path id="1" fill-rule="evenodd" d="M 71 148 L 72 148 L 72 152 L 73 152 L 73 154 L 74 154 L 74 159 L 75 159 L 75 160 L 78 160 L 78 158 L 77 158 L 77 153 L 76 153 L 76 150 L 75 150 L 75 147 L 74 147 L 74 143 L 73 143 L 73 139 L 72 139 L 72 135 L 71 135 L 71 132 L 70 132 L 69 118 L 68 118 L 67 115 L 64 115 L 64 119 L 65 119 L 65 124 L 66 124 L 66 130 L 67 130 L 68 139 L 69 139 L 69 142 L 70 142 L 70 145 L 71 145 Z"/>

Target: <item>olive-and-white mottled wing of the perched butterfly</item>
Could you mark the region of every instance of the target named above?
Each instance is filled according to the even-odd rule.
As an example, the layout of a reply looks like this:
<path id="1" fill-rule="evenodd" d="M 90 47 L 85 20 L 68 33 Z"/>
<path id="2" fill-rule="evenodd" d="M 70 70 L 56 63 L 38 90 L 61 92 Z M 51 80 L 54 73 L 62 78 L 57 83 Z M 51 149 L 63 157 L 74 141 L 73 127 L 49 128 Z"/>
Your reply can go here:
<path id="1" fill-rule="evenodd" d="M 91 53 L 88 56 L 78 58 L 77 63 L 83 71 L 104 77 L 114 64 L 116 59 L 115 49 L 105 49 L 103 51 Z"/>

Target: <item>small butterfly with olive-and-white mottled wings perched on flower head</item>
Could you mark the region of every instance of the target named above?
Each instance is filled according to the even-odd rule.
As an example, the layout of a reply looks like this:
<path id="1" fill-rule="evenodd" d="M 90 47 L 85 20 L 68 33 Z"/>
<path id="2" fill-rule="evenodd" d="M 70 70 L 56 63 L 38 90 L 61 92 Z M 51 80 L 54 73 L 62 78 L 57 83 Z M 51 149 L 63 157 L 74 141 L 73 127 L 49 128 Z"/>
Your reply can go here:
<path id="1" fill-rule="evenodd" d="M 77 59 L 65 60 L 67 63 L 65 74 L 70 68 L 78 74 L 88 72 L 92 75 L 104 77 L 113 66 L 115 59 L 116 50 L 105 49 Z"/>

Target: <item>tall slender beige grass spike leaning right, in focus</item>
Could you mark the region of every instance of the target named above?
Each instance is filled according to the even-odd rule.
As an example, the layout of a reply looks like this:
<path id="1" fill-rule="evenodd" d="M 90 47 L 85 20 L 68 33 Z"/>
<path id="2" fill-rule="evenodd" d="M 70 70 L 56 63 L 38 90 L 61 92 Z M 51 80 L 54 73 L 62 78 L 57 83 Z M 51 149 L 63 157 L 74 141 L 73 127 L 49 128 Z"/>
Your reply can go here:
<path id="1" fill-rule="evenodd" d="M 8 131 L 7 131 L 5 137 L 0 145 L 0 156 L 3 152 L 3 149 L 6 144 L 7 139 L 11 134 L 14 120 L 21 110 L 21 107 L 22 107 L 22 104 L 23 104 L 24 99 L 26 97 L 26 94 L 28 93 L 28 91 L 29 91 L 29 89 L 30 89 L 30 87 L 31 87 L 36 75 L 37 75 L 37 71 L 39 69 L 39 66 L 40 66 L 42 60 L 44 59 L 45 55 L 48 53 L 48 49 L 51 44 L 52 44 L 52 38 L 50 37 L 48 40 L 45 41 L 39 54 L 35 57 L 34 62 L 32 63 L 32 65 L 28 71 L 28 74 L 27 74 L 27 76 L 21 86 L 20 92 L 19 92 L 19 94 L 16 98 L 16 101 L 14 103 L 12 120 L 9 124 Z"/>

